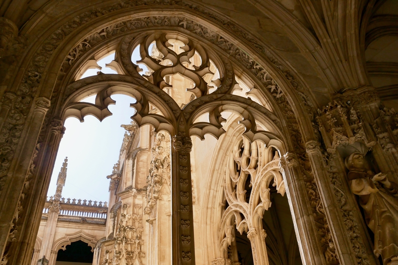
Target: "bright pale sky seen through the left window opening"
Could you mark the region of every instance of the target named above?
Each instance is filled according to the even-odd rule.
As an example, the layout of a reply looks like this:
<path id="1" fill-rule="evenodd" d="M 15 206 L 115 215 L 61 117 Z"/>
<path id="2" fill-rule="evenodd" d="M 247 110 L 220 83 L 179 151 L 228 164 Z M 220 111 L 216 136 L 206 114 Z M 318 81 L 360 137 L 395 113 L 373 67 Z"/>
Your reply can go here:
<path id="1" fill-rule="evenodd" d="M 138 51 L 139 47 L 134 50 L 132 56 L 134 63 L 140 59 Z M 113 59 L 114 54 L 111 54 L 97 62 L 102 67 L 102 72 L 116 73 L 105 66 Z M 96 75 L 99 70 L 100 68 L 89 69 L 82 78 Z M 109 200 L 109 180 L 106 176 L 112 173 L 113 165 L 119 158 L 125 132 L 120 125 L 130 124 L 130 117 L 135 112 L 129 107 L 130 103 L 135 102 L 133 98 L 125 95 L 112 95 L 111 98 L 116 101 L 116 105 L 109 106 L 109 111 L 113 115 L 102 122 L 94 116 L 86 116 L 84 123 L 80 123 L 76 118 L 68 118 L 65 121 L 66 131 L 58 150 L 47 196 L 55 194 L 58 173 L 67 156 L 68 171 L 62 197 L 93 201 Z M 94 103 L 94 100 L 95 96 L 92 96 L 83 101 Z"/>

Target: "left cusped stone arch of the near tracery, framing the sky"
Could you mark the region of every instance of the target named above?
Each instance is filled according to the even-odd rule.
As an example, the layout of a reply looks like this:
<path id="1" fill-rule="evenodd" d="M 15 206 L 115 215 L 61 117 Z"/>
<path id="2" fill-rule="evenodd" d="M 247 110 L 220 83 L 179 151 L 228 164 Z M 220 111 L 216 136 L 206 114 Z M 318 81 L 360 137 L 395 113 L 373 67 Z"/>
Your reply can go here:
<path id="1" fill-rule="evenodd" d="M 84 116 L 93 115 L 100 121 L 111 115 L 108 105 L 114 104 L 110 96 L 114 93 L 126 94 L 133 97 L 136 103 L 130 106 L 136 109 L 134 120 L 142 126 L 151 124 L 156 130 L 173 132 L 176 124 L 176 116 L 181 112 L 174 100 L 156 86 L 143 87 L 137 84 L 135 78 L 118 74 L 103 74 L 99 77 L 87 77 L 72 83 L 68 88 L 76 89 L 64 103 L 63 119 L 73 116 L 83 121 Z M 85 80 L 86 79 L 86 80 Z M 76 102 L 84 97 L 84 94 L 97 92 L 96 104 Z M 156 93 L 156 94 L 155 94 Z M 149 103 L 155 105 L 165 117 L 149 113 Z M 177 114 L 177 115 L 176 115 Z"/>

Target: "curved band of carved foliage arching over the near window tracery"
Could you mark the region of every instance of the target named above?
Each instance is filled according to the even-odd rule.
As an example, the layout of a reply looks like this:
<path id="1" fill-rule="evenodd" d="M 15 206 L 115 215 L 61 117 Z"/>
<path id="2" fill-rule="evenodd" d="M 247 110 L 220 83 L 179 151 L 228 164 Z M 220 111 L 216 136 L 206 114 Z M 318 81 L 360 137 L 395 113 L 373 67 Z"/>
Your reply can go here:
<path id="1" fill-rule="evenodd" d="M 193 27 L 193 25 L 195 25 L 195 27 L 198 26 L 200 28 L 200 30 L 198 30 L 198 29 L 192 30 L 192 32 L 197 33 L 198 35 L 200 35 L 203 38 L 204 41 L 207 41 L 207 42 L 209 42 L 209 40 L 220 40 L 220 38 L 221 38 L 222 42 L 218 41 L 218 43 L 217 43 L 218 46 L 220 47 L 220 49 L 225 48 L 226 49 L 225 51 L 229 51 L 229 52 L 233 51 L 233 55 L 235 57 L 234 61 L 240 62 L 239 64 L 241 64 L 243 66 L 243 67 L 241 67 L 242 69 L 250 68 L 251 69 L 250 71 L 252 72 L 251 74 L 254 74 L 253 76 L 257 77 L 258 80 L 263 80 L 264 82 L 267 83 L 267 82 L 271 82 L 272 79 L 275 78 L 278 81 L 278 83 L 280 83 L 280 85 L 282 86 L 282 90 L 284 90 L 284 93 L 286 93 L 288 95 L 286 99 L 288 101 L 292 101 L 292 103 L 293 103 L 293 104 L 291 104 L 292 108 L 294 110 L 296 110 L 296 109 L 298 110 L 298 111 L 294 111 L 296 113 L 296 116 L 297 117 L 298 116 L 306 117 L 306 115 L 300 115 L 301 113 L 305 113 L 305 110 L 303 110 L 303 109 L 299 110 L 301 108 L 300 101 L 301 100 L 306 101 L 307 100 L 306 96 L 297 95 L 296 94 L 297 92 L 295 92 L 294 88 L 288 88 L 288 87 L 292 86 L 290 83 L 293 80 L 292 79 L 293 77 L 290 76 L 289 80 L 287 80 L 286 77 L 284 76 L 284 74 L 281 73 L 277 69 L 277 67 L 275 67 L 273 64 L 267 63 L 267 60 L 261 59 L 262 57 L 264 57 L 264 54 L 261 55 L 261 53 L 263 53 L 264 51 L 270 51 L 270 49 L 265 47 L 263 44 L 261 44 L 261 42 L 257 41 L 255 38 L 250 38 L 250 41 L 255 43 L 254 47 L 256 47 L 256 48 L 253 49 L 252 48 L 253 46 L 252 47 L 250 47 L 250 45 L 247 46 L 247 44 L 245 43 L 246 41 L 244 39 L 242 39 L 242 37 L 241 37 L 241 36 L 245 36 L 247 34 L 244 33 L 244 30 L 240 29 L 240 27 L 235 27 L 235 25 L 233 25 L 232 28 L 234 28 L 235 31 L 237 30 L 234 35 L 233 30 L 228 31 L 227 29 L 224 29 L 222 26 L 218 25 L 217 23 L 214 23 L 214 21 L 211 21 L 211 19 L 209 19 L 208 17 L 203 15 L 203 13 L 200 13 L 198 11 L 193 11 L 192 9 L 190 9 L 190 8 L 192 8 L 190 6 L 186 6 L 184 8 L 182 8 L 180 6 L 176 6 L 176 8 L 177 9 L 181 8 L 181 12 L 179 13 L 179 15 L 181 15 L 184 18 L 182 20 L 183 22 L 178 20 L 177 19 L 178 17 L 165 16 L 163 19 L 163 20 L 167 20 L 165 22 L 165 24 L 159 23 L 159 25 L 158 25 L 160 16 L 161 15 L 164 16 L 164 13 L 162 11 L 160 11 L 160 9 L 159 9 L 159 11 L 156 11 L 158 9 L 157 9 L 157 7 L 156 8 L 154 7 L 154 8 L 151 8 L 151 11 L 152 11 L 152 13 L 159 12 L 158 16 L 145 17 L 146 21 L 144 21 L 145 19 L 143 19 L 143 15 L 146 14 L 144 11 L 145 8 L 140 10 L 140 12 L 142 12 L 141 14 L 135 13 L 134 15 L 129 15 L 128 17 L 126 17 L 126 16 L 123 17 L 122 15 L 125 13 L 119 12 L 120 14 L 119 14 L 117 23 L 120 23 L 120 25 L 123 24 L 123 26 L 125 26 L 125 24 L 127 24 L 127 22 L 128 23 L 131 22 L 130 21 L 131 17 L 137 16 L 137 17 L 140 17 L 140 20 L 144 21 L 144 22 L 141 21 L 142 23 L 140 22 L 141 25 L 137 21 L 136 21 L 137 23 L 135 23 L 135 24 L 132 23 L 132 24 L 134 24 L 134 29 L 136 29 L 137 31 L 138 30 L 142 31 L 143 29 L 149 30 L 148 26 L 151 26 L 153 28 L 155 28 L 155 26 L 159 26 L 158 28 L 160 30 L 164 30 L 164 28 L 166 26 L 178 27 L 178 28 L 184 29 L 184 30 L 188 30 L 189 26 L 191 26 L 191 27 Z M 126 6 L 126 9 L 128 9 L 128 6 Z M 193 16 L 193 14 L 195 14 L 195 15 Z M 115 15 L 115 16 L 117 17 L 117 15 Z M 192 19 L 192 17 L 194 17 L 195 18 L 194 20 L 198 21 L 198 22 L 192 22 L 192 20 L 188 20 L 188 18 Z M 212 18 L 214 18 L 214 17 L 212 17 Z M 50 64 L 48 64 L 47 67 L 49 67 L 49 72 L 52 72 L 53 69 L 59 69 L 56 66 L 56 64 L 57 64 L 57 62 L 59 64 L 59 62 L 62 60 L 63 61 L 62 70 L 61 70 L 61 72 L 56 73 L 56 75 L 61 74 L 62 76 L 65 76 L 65 78 L 67 78 L 69 76 L 68 68 L 70 68 L 71 66 L 74 66 L 75 62 L 78 62 L 80 58 L 84 57 L 86 49 L 88 49 L 90 47 L 99 48 L 98 45 L 82 46 L 82 43 L 84 43 L 86 40 L 84 36 L 89 36 L 89 39 L 94 41 L 94 44 L 98 44 L 100 42 L 109 43 L 109 41 L 112 40 L 112 38 L 116 38 L 115 37 L 116 35 L 118 37 L 118 36 L 123 36 L 123 34 L 128 33 L 129 29 L 123 28 L 123 26 L 118 28 L 118 30 L 116 30 L 116 31 L 110 30 L 112 27 L 109 27 L 109 26 L 101 28 L 100 27 L 101 19 L 98 18 L 98 19 L 94 19 L 94 20 L 95 21 L 92 21 L 92 22 L 90 21 L 90 23 L 88 23 L 88 24 L 91 24 L 91 26 L 92 26 L 92 27 L 90 27 L 90 29 L 95 28 L 95 30 L 89 31 L 89 30 L 87 30 L 88 28 L 86 28 L 86 30 L 81 30 L 79 32 L 78 36 L 81 37 L 81 39 L 80 39 L 81 42 L 78 42 L 75 44 L 73 44 L 73 42 L 64 42 L 62 44 L 65 49 L 59 49 L 59 51 L 68 51 L 69 50 L 69 51 L 71 51 L 71 54 L 73 54 L 74 56 L 72 56 L 72 58 L 71 58 L 70 55 L 65 54 L 62 57 L 63 52 L 60 52 L 58 54 L 59 56 L 54 57 L 54 61 L 51 62 Z M 202 25 L 204 25 L 204 26 L 202 26 Z M 228 24 L 225 26 L 229 27 L 230 25 Z M 215 31 L 209 30 L 210 28 L 216 29 L 216 30 Z M 213 35 L 215 32 L 222 32 L 223 36 Z M 104 34 L 102 34 L 102 33 L 104 33 Z M 77 39 L 77 38 L 75 38 L 75 39 Z M 229 40 L 234 40 L 234 42 L 231 42 Z M 237 41 L 239 41 L 240 43 L 237 43 Z M 245 52 L 243 52 L 243 50 L 239 50 L 238 47 L 245 47 L 244 48 Z M 256 51 L 256 49 L 257 49 L 257 51 Z M 251 56 L 249 54 L 253 54 L 254 56 Z M 67 61 L 65 61 L 67 58 L 69 58 L 69 59 Z M 256 63 L 253 58 L 257 58 L 256 61 L 258 61 L 259 63 Z M 55 65 L 52 63 L 54 63 Z M 248 72 L 250 72 L 250 71 L 248 71 Z M 271 75 L 273 76 L 272 78 L 271 78 Z M 48 76 L 50 76 L 50 75 L 48 75 Z M 266 77 L 266 76 L 269 76 L 269 77 Z M 46 76 L 46 78 L 47 78 L 47 76 Z M 68 77 L 68 78 L 70 79 L 70 77 Z M 61 81 L 60 83 L 61 84 L 64 83 L 63 85 L 66 85 L 65 80 L 66 79 L 63 78 L 63 81 Z M 51 81 L 51 80 L 48 80 L 48 81 Z M 51 82 L 49 82 L 49 83 L 51 83 Z M 264 83 L 264 84 L 266 84 L 266 83 Z M 298 83 L 299 82 L 297 80 L 295 80 L 293 86 L 297 86 Z M 56 86 L 58 86 L 58 84 L 56 84 Z M 271 83 L 269 84 L 269 87 L 271 90 L 272 89 L 275 90 L 275 88 L 273 88 L 273 85 Z M 280 87 L 278 89 L 280 89 Z M 53 103 L 56 103 L 55 101 L 57 100 L 57 97 L 59 97 L 59 94 L 57 94 L 57 93 L 59 93 L 61 90 L 64 90 L 64 89 L 57 88 L 57 89 L 53 90 L 53 94 L 52 94 Z M 44 94 L 48 95 L 48 92 L 44 92 L 45 89 L 41 90 L 41 91 L 43 91 L 43 95 Z M 271 95 L 271 93 L 273 93 L 273 92 L 269 92 L 269 93 L 270 93 L 269 95 Z M 281 94 L 278 92 L 277 96 L 280 97 Z M 310 103 L 308 101 L 306 105 L 311 105 L 311 104 L 312 103 Z M 56 109 L 58 109 L 58 111 L 62 111 L 59 109 L 59 107 L 56 107 Z M 56 116 L 58 116 L 58 115 L 56 115 Z M 305 127 L 304 124 L 309 125 L 308 130 L 303 129 L 303 131 L 308 132 L 308 133 L 306 133 L 306 135 L 309 136 L 310 134 L 313 133 L 310 121 L 306 121 L 306 122 L 298 121 L 298 122 L 299 122 L 300 126 Z M 304 137 L 306 137 L 306 136 L 304 136 Z"/>

